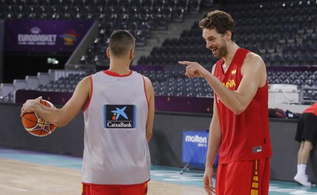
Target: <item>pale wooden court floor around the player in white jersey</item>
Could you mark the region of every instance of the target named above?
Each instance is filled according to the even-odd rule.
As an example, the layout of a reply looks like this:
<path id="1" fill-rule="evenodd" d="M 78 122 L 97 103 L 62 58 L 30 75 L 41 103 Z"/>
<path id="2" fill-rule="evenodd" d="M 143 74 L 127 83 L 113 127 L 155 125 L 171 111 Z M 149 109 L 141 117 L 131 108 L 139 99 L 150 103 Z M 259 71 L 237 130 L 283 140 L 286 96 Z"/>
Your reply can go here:
<path id="1" fill-rule="evenodd" d="M 80 195 L 81 170 L 0 159 L 0 194 Z M 206 192 L 201 187 L 148 183 L 148 195 L 189 194 L 205 195 Z"/>

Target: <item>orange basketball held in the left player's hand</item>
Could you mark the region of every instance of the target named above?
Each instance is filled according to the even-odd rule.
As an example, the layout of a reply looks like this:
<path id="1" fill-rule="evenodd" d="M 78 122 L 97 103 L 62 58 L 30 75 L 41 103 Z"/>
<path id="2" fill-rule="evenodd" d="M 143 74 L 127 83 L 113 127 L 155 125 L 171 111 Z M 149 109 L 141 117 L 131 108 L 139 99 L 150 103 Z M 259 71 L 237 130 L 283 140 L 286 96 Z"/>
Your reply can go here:
<path id="1" fill-rule="evenodd" d="M 46 100 L 41 100 L 41 104 L 55 108 L 51 102 Z M 34 112 L 25 113 L 22 116 L 22 125 L 28 133 L 39 137 L 47 136 L 56 129 L 56 125 L 45 121 Z"/>

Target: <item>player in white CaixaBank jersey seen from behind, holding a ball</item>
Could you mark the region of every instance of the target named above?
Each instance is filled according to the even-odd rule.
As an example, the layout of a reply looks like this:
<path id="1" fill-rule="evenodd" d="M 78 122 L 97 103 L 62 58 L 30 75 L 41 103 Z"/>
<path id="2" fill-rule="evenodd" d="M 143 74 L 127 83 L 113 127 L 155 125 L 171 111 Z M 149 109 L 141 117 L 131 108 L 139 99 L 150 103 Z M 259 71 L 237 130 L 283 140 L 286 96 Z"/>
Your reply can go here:
<path id="1" fill-rule="evenodd" d="M 83 195 L 144 195 L 150 179 L 147 141 L 152 135 L 154 92 L 151 81 L 130 70 L 135 38 L 113 32 L 109 70 L 85 77 L 60 109 L 27 100 L 21 116 L 35 112 L 62 127 L 84 108 Z"/>

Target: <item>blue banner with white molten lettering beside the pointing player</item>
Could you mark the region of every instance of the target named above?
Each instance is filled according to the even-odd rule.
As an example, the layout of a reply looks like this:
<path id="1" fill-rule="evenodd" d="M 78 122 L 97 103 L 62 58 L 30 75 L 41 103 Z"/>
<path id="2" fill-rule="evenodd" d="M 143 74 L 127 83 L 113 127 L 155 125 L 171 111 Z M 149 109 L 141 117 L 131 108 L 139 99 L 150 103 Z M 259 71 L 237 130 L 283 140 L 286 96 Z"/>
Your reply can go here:
<path id="1" fill-rule="evenodd" d="M 183 131 L 183 162 L 206 163 L 209 131 Z"/>

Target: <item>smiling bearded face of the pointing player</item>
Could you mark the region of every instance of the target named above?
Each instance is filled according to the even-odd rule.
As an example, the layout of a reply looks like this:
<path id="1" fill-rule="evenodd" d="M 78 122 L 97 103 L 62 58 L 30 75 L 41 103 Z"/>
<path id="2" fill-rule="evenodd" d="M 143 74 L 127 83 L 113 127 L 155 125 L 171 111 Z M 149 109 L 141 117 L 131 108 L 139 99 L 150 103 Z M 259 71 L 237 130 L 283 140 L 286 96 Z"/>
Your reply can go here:
<path id="1" fill-rule="evenodd" d="M 222 58 L 228 54 L 227 38 L 228 34 L 220 34 L 214 28 L 203 29 L 203 38 L 206 41 L 206 48 L 212 51 L 216 58 Z"/>

